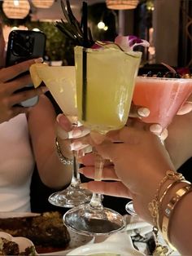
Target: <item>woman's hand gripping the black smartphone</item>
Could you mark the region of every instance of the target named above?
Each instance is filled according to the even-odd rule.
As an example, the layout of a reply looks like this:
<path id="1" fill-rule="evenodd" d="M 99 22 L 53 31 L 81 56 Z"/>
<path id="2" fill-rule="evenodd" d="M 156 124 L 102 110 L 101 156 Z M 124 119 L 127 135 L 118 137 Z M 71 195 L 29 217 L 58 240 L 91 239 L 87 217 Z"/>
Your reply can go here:
<path id="1" fill-rule="evenodd" d="M 8 68 L 0 69 L 0 123 L 8 121 L 20 113 L 28 112 L 28 108 L 15 106 L 15 104 L 20 104 L 21 101 L 46 92 L 46 87 L 40 86 L 37 89 L 15 93 L 15 90 L 19 90 L 31 82 L 30 75 L 24 75 L 23 77 L 17 76 L 27 71 L 31 64 L 41 61 L 41 58 L 28 60 Z"/>

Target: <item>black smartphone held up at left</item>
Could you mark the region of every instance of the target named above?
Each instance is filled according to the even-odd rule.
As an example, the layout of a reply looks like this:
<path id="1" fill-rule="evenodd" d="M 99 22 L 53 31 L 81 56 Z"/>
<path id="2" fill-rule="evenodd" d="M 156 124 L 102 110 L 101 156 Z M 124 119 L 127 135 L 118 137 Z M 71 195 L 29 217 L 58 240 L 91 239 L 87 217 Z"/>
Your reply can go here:
<path id="1" fill-rule="evenodd" d="M 33 30 L 13 30 L 9 34 L 7 43 L 6 66 L 18 64 L 24 60 L 35 59 L 44 56 L 46 49 L 46 34 Z M 26 72 L 28 73 L 28 72 Z M 26 74 L 23 73 L 20 76 Z M 33 83 L 28 84 L 15 93 L 33 89 Z M 22 107 L 32 107 L 38 102 L 38 96 L 20 102 Z"/>

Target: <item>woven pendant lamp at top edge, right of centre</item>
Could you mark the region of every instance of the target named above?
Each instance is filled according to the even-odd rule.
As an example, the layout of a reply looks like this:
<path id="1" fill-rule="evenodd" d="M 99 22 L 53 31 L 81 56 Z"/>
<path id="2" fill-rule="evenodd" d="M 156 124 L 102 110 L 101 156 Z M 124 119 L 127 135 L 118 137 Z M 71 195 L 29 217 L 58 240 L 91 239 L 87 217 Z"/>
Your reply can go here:
<path id="1" fill-rule="evenodd" d="M 113 10 L 129 10 L 137 7 L 139 0 L 106 0 L 107 8 Z"/>

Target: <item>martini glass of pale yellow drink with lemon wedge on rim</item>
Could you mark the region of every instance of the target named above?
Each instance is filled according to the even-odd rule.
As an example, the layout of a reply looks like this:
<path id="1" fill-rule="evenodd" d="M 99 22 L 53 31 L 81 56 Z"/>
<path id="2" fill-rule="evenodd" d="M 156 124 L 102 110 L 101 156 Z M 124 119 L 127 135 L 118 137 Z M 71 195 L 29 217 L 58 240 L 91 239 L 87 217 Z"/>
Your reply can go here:
<path id="1" fill-rule="evenodd" d="M 72 121 L 72 126 L 78 126 L 75 67 L 48 66 L 46 64 L 34 65 L 36 66 L 33 70 L 36 71 L 37 77 L 45 82 L 63 113 Z M 90 201 L 92 193 L 89 190 L 80 188 L 81 180 L 77 158 L 78 152 L 73 151 L 72 181 L 68 188 L 49 196 L 48 201 L 52 205 L 71 208 Z"/>

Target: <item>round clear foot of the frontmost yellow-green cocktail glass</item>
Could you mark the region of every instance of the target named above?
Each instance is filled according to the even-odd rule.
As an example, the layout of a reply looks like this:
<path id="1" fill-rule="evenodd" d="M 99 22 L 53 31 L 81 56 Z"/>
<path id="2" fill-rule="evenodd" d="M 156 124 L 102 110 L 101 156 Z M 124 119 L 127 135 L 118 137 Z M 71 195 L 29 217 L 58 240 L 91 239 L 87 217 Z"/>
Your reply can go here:
<path id="1" fill-rule="evenodd" d="M 90 205 L 72 208 L 63 215 L 63 222 L 72 231 L 85 236 L 108 236 L 125 227 L 125 219 L 115 210 L 93 210 Z"/>

